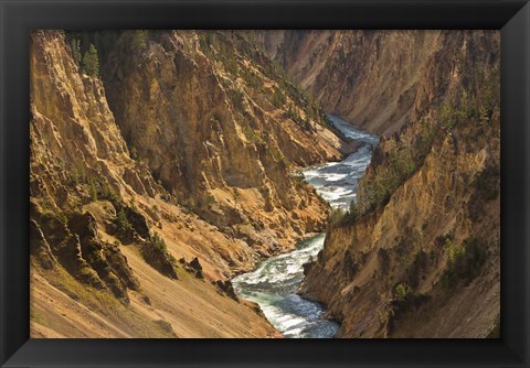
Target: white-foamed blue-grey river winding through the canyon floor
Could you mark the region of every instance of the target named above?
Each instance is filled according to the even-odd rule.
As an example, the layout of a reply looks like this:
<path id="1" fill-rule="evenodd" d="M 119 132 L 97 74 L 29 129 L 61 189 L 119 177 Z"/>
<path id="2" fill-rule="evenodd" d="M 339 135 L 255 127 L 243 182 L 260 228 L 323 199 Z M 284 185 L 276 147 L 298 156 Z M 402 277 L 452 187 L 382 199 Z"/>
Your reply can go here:
<path id="1" fill-rule="evenodd" d="M 348 208 L 357 196 L 357 183 L 370 164 L 371 147 L 379 143 L 375 136 L 351 127 L 329 115 L 344 136 L 363 144 L 340 162 L 329 162 L 303 171 L 306 182 L 333 208 Z M 296 245 L 296 250 L 268 258 L 247 273 L 232 280 L 236 293 L 259 304 L 267 320 L 285 337 L 330 338 L 339 324 L 324 320 L 325 307 L 303 299 L 296 292 L 304 280 L 303 264 L 316 259 L 324 247 L 326 234 L 319 234 Z"/>

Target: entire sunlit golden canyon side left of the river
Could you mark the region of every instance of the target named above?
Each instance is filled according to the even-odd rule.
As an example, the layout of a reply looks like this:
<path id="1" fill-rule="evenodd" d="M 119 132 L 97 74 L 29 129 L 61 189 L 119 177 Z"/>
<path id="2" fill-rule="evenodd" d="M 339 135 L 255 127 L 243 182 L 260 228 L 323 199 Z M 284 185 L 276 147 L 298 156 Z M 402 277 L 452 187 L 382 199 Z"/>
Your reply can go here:
<path id="1" fill-rule="evenodd" d="M 317 115 L 285 117 L 287 104 L 305 117 L 301 95 L 284 97 L 277 108 L 267 102 L 272 112 L 262 118 L 253 115 L 259 108 L 245 112 L 250 97 L 235 108 L 226 97 L 234 86 L 216 80 L 215 63 L 193 48 L 195 33 L 159 36 L 170 47 L 188 43 L 200 64 L 184 50 L 171 54 L 149 41 L 140 47 L 141 68 L 128 66 L 117 72 L 130 73 L 123 79 L 102 83 L 97 61 L 106 71 L 119 55 L 102 52 L 91 62 L 87 45 L 77 50 L 70 34 L 32 34 L 34 337 L 278 336 L 225 280 L 322 226 L 326 204 L 293 173 L 340 158 L 348 144 Z M 268 83 L 271 94 L 286 95 Z M 182 89 L 165 100 L 170 84 Z M 116 115 L 107 96 L 115 97 Z M 267 123 L 254 127 L 257 138 L 254 121 Z M 303 150 L 308 142 L 312 148 Z"/>

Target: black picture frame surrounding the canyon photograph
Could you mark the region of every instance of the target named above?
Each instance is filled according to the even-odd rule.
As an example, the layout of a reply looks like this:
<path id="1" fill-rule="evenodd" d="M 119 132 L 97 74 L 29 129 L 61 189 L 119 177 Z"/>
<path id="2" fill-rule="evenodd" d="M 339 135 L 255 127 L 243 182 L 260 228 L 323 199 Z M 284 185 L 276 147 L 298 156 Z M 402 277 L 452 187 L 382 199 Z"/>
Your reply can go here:
<path id="1" fill-rule="evenodd" d="M 0 0 L 2 367 L 529 367 L 530 4 L 522 0 Z M 501 30 L 500 339 L 30 339 L 32 29 Z"/>

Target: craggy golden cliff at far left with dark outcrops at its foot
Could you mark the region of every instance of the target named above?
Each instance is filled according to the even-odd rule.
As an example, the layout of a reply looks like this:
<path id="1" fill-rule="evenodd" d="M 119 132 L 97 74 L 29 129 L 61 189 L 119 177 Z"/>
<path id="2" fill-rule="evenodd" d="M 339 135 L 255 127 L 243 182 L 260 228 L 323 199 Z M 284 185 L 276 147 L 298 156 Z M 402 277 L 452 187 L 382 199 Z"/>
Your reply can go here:
<path id="1" fill-rule="evenodd" d="M 89 196 L 83 193 L 86 187 L 81 182 L 88 184 L 88 177 L 103 176 L 108 187 L 134 193 L 120 175 L 121 170 L 137 165 L 128 158 L 104 102 L 103 85 L 77 73 L 63 39 L 54 32 L 35 32 L 31 51 L 34 241 L 49 242 L 51 252 L 77 280 L 96 289 L 108 288 L 116 297 L 127 301 L 126 289 L 137 289 L 138 281 L 121 255 L 112 261 L 106 259 L 104 253 L 110 246 L 98 238 L 96 219 L 78 210 Z M 87 186 L 97 196 L 94 182 Z M 36 258 L 42 263 L 43 252 Z"/>

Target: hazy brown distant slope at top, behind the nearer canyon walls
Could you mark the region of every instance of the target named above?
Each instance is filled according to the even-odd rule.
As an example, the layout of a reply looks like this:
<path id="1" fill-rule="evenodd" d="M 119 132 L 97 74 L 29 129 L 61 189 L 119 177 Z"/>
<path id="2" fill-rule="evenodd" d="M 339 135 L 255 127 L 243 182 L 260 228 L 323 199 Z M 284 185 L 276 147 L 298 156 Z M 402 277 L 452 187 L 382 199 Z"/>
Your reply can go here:
<path id="1" fill-rule="evenodd" d="M 390 137 L 446 93 L 463 32 L 258 31 L 254 40 L 327 112 Z"/>

